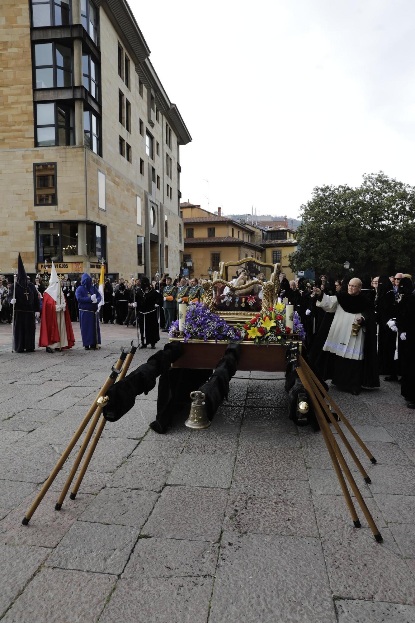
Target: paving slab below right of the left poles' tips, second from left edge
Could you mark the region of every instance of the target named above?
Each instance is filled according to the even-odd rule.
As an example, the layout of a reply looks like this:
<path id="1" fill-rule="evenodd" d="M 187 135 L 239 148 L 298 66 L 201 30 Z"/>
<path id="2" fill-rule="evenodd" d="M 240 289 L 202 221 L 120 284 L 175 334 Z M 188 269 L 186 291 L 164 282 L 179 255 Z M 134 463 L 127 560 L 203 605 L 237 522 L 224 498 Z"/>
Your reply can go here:
<path id="1" fill-rule="evenodd" d="M 122 573 L 139 528 L 77 521 L 50 555 L 47 565 L 61 569 Z"/>

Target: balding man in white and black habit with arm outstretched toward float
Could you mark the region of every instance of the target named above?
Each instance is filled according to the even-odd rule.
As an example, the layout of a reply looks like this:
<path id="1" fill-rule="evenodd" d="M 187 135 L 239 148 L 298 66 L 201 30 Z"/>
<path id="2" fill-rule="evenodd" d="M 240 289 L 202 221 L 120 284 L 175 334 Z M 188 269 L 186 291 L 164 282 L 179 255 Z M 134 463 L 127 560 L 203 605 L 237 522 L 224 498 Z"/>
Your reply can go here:
<path id="1" fill-rule="evenodd" d="M 334 313 L 334 317 L 330 327 L 323 323 L 322 330 L 328 327 L 328 333 L 318 333 L 312 359 L 323 379 L 332 379 L 339 389 L 354 396 L 362 386 L 379 387 L 374 308 L 371 300 L 361 294 L 361 285 L 360 279 L 351 279 L 347 292 L 332 297 L 313 288 L 317 307 Z"/>

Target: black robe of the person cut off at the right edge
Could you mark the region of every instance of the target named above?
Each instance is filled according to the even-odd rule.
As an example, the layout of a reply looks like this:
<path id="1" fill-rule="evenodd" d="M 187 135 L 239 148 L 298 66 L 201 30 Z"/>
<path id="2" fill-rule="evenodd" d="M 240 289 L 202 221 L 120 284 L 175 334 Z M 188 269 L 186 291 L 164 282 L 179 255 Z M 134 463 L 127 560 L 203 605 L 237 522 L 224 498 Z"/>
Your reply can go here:
<path id="1" fill-rule="evenodd" d="M 404 295 L 398 304 L 396 325 L 399 335 L 406 333 L 406 340 L 399 342 L 402 348 L 399 350 L 401 358 L 401 396 L 411 404 L 415 403 L 415 294 Z"/>

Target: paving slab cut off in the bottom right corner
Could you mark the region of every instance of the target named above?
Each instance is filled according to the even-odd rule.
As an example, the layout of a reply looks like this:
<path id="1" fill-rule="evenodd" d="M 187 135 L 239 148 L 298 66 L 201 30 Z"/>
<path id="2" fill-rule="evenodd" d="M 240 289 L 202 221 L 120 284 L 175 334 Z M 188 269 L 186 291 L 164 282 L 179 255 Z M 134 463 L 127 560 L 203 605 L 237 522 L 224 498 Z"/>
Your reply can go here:
<path id="1" fill-rule="evenodd" d="M 414 623 L 415 606 L 386 602 L 336 601 L 338 623 Z"/>

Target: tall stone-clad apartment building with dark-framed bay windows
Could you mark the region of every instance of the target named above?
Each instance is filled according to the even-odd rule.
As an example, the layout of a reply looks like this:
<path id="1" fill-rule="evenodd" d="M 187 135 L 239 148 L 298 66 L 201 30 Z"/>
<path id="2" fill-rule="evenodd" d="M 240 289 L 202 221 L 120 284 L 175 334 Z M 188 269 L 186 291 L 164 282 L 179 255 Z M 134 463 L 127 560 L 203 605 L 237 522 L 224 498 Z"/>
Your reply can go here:
<path id="1" fill-rule="evenodd" d="M 125 0 L 3 0 L 0 272 L 179 272 L 191 141 Z"/>

